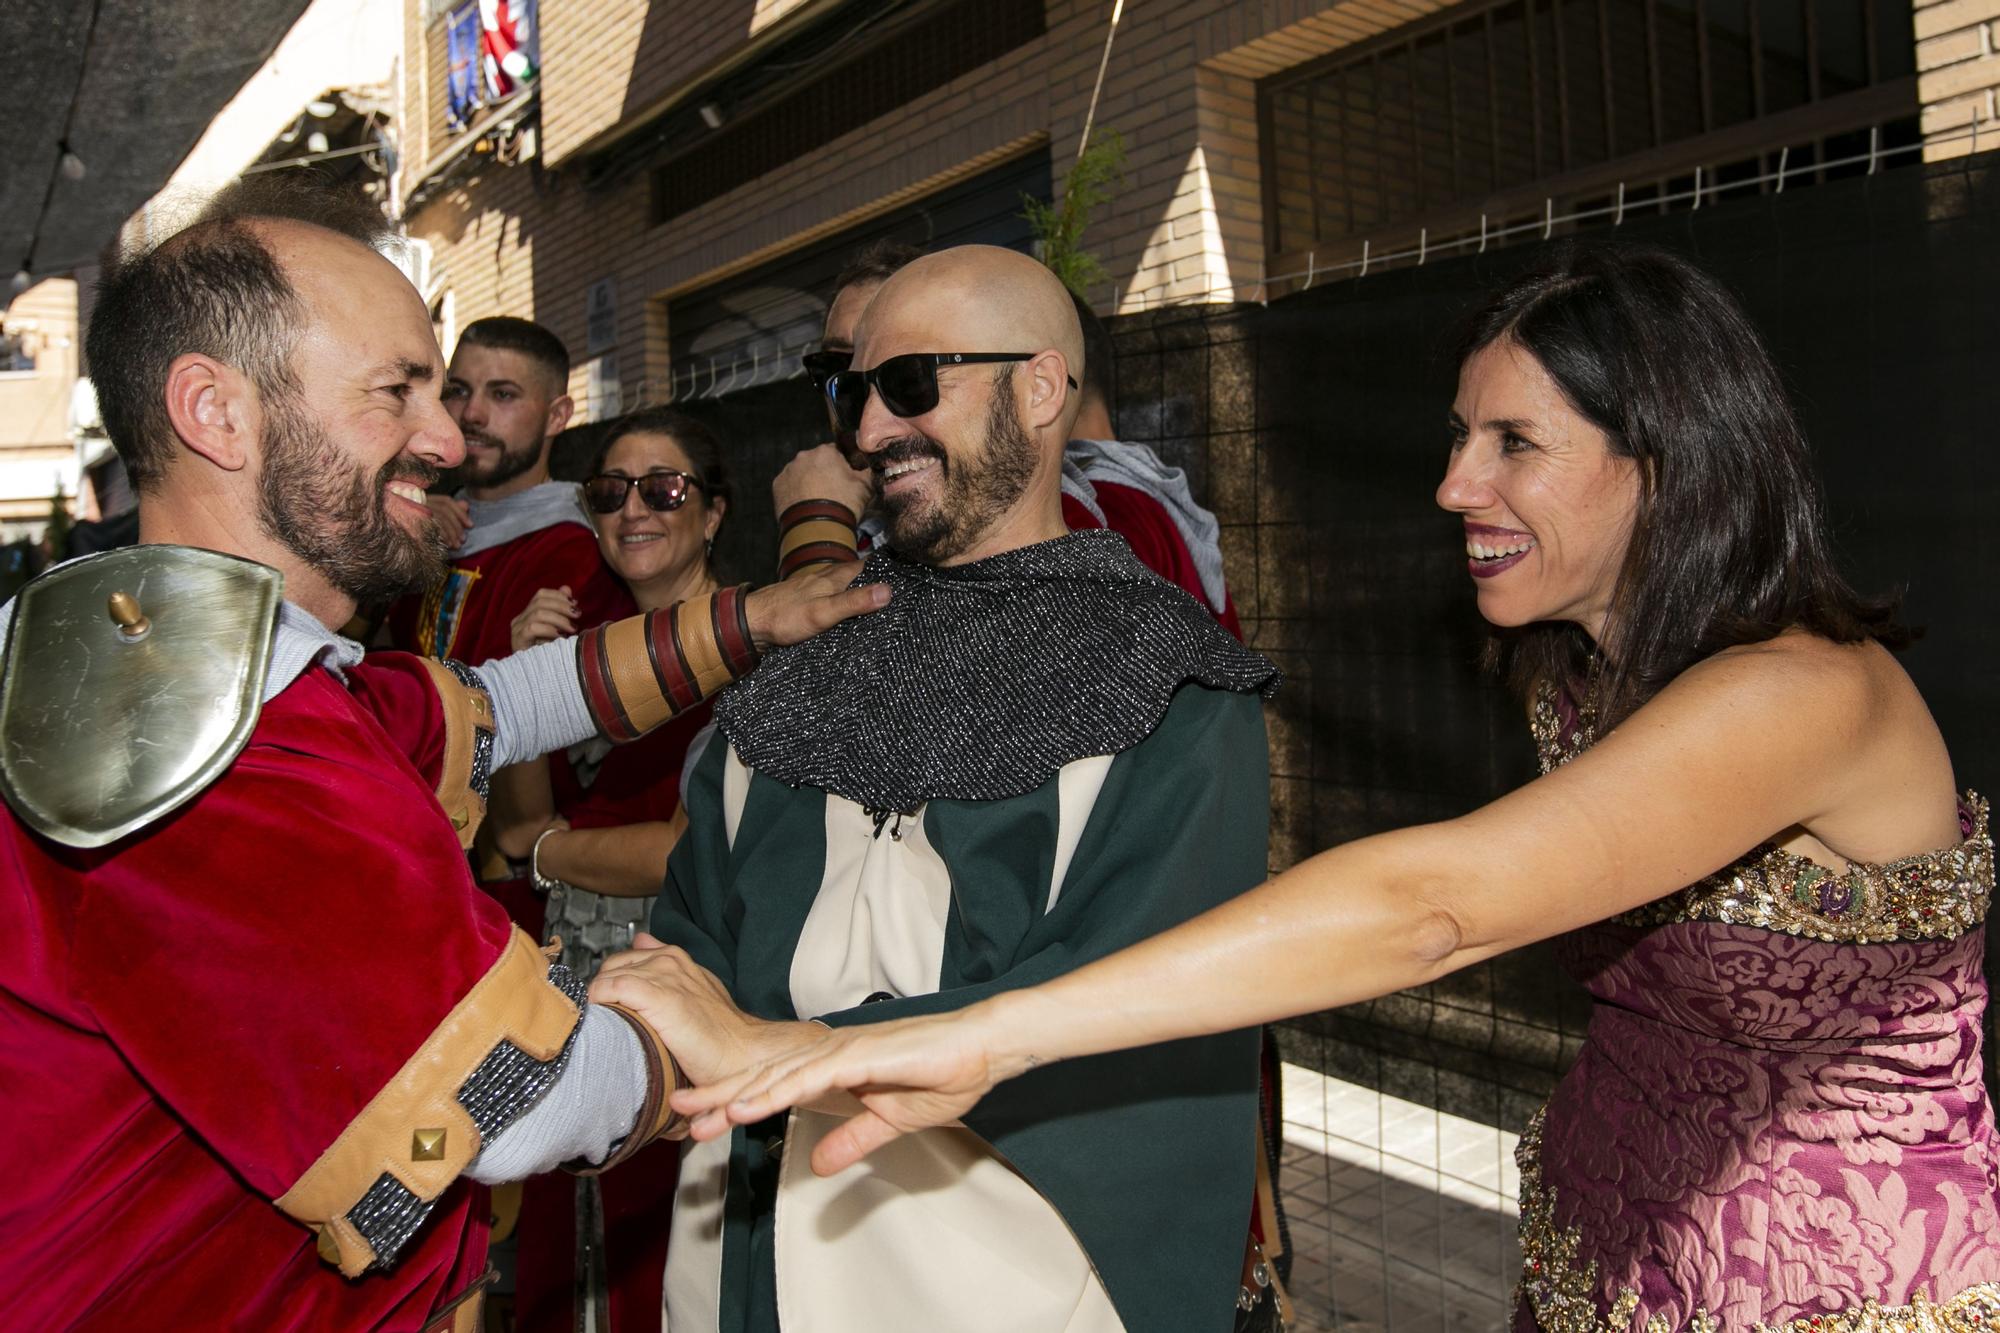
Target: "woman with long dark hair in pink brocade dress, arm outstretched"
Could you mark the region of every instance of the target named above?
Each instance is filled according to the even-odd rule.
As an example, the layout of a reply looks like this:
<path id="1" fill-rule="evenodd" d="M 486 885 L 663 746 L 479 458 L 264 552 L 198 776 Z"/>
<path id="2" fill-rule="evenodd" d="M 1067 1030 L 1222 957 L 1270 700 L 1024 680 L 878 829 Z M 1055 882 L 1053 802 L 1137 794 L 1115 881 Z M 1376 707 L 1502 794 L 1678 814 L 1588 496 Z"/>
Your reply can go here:
<path id="1" fill-rule="evenodd" d="M 1562 246 L 1460 348 L 1438 502 L 1544 777 L 1326 851 L 1124 953 L 680 1093 L 696 1135 L 852 1089 L 814 1167 L 1038 1063 L 1350 1005 L 1562 935 L 1596 1001 L 1520 1145 L 1520 1329 L 2000 1317 L 1986 803 L 1838 574 L 1786 394 L 1672 254 Z M 678 961 L 606 995 L 670 1011 Z"/>

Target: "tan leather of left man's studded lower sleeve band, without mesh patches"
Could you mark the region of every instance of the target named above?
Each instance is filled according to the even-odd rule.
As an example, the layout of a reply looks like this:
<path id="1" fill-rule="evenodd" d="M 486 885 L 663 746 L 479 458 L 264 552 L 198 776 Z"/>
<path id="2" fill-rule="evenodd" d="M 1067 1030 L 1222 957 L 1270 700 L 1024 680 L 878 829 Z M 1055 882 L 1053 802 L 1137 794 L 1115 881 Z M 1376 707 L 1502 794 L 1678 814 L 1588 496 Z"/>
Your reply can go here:
<path id="1" fill-rule="evenodd" d="M 500 959 L 278 1199 L 318 1233 L 320 1257 L 344 1275 L 360 1277 L 376 1261 L 348 1211 L 378 1179 L 390 1175 L 430 1203 L 478 1157 L 478 1127 L 458 1101 L 472 1071 L 502 1041 L 538 1063 L 562 1053 L 580 1011 L 548 981 L 548 965 L 516 927 Z"/>

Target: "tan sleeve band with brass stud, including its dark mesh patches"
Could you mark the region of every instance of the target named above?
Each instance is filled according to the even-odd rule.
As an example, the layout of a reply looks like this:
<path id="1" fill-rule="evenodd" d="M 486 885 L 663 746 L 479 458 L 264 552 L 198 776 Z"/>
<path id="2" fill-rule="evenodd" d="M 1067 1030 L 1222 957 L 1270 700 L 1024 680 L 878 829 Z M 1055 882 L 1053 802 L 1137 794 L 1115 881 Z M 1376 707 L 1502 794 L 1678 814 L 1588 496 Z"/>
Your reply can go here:
<path id="1" fill-rule="evenodd" d="M 568 1063 L 584 985 L 514 929 L 500 959 L 278 1207 L 346 1277 L 394 1263 L 438 1197 Z"/>

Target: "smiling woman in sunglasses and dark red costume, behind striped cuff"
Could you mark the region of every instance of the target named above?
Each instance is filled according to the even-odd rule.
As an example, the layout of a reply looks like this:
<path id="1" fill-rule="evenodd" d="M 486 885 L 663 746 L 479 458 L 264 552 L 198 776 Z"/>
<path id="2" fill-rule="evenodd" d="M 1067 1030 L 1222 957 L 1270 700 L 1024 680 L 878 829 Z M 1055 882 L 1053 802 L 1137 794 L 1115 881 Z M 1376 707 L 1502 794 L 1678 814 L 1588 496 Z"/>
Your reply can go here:
<path id="1" fill-rule="evenodd" d="M 608 620 L 716 590 L 710 550 L 730 506 L 722 444 L 700 422 L 648 408 L 612 424 L 582 484 L 604 564 L 630 600 Z M 514 650 L 592 628 L 576 622 L 568 588 L 542 588 L 514 618 Z M 652 913 L 666 857 L 686 827 L 680 769 L 688 743 L 708 725 L 710 705 L 688 709 L 632 745 L 596 739 L 544 765 L 548 783 L 538 809 L 516 817 L 504 845 L 532 847 L 530 877 L 548 895 L 548 935 L 562 937 L 562 961 L 578 977 L 596 973 L 606 955 L 632 945 Z M 528 827 L 522 827 L 522 825 Z M 676 1143 L 656 1143 L 594 1181 L 536 1177 L 522 1199 L 516 1327 L 580 1327 L 574 1291 L 602 1299 L 608 1287 L 610 1331 L 660 1327 L 660 1285 L 672 1219 Z M 600 1189 L 604 1237 L 590 1253 L 604 1273 L 572 1277 L 578 1189 Z M 604 1325 L 600 1311 L 596 1327 Z"/>

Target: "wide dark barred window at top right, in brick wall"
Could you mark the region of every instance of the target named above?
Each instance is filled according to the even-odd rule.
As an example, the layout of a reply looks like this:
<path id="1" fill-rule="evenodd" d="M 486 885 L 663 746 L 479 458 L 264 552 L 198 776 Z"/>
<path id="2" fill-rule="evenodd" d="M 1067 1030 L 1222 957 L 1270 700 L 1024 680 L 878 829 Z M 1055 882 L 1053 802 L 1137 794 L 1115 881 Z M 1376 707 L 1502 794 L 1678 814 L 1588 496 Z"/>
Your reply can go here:
<path id="1" fill-rule="evenodd" d="M 1914 142 L 1908 4 L 1480 0 L 1258 86 L 1270 266 Z M 1770 160 L 1766 160 L 1770 158 Z"/>

